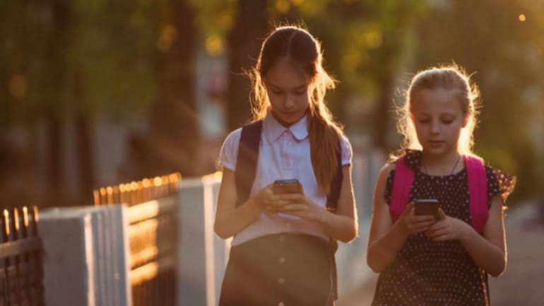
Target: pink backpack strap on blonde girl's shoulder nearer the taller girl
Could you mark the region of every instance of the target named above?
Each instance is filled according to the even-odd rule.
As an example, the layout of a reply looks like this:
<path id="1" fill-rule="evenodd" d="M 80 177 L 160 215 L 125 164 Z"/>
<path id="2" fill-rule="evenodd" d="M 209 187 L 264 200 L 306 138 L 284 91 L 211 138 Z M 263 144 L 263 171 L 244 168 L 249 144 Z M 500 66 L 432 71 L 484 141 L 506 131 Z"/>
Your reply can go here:
<path id="1" fill-rule="evenodd" d="M 391 203 L 389 204 L 389 214 L 393 223 L 402 215 L 404 208 L 408 204 L 414 177 L 415 173 L 404 163 L 404 156 L 398 158 L 393 179 Z"/>

